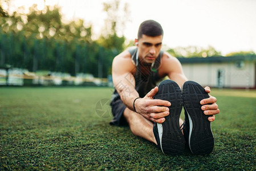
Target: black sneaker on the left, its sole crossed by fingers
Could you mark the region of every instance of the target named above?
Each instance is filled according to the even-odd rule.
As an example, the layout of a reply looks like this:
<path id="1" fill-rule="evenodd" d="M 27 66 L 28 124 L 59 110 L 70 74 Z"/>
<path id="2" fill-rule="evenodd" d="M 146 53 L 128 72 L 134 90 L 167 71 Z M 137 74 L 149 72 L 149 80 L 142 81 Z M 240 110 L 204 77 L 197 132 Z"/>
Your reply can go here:
<path id="1" fill-rule="evenodd" d="M 162 124 L 155 123 L 153 132 L 157 144 L 164 154 L 181 154 L 185 149 L 185 139 L 180 129 L 180 113 L 183 100 L 178 84 L 172 80 L 164 80 L 159 84 L 159 91 L 154 99 L 170 101 L 170 114 L 165 116 Z"/>

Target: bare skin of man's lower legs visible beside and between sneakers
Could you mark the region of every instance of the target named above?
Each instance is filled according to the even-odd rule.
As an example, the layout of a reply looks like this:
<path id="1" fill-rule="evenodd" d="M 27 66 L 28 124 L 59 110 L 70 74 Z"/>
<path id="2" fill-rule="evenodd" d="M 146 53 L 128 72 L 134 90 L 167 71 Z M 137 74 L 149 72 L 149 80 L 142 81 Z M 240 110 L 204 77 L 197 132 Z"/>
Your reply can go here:
<path id="1" fill-rule="evenodd" d="M 128 108 L 125 108 L 124 110 L 124 117 L 134 135 L 143 137 L 144 139 L 157 144 L 153 133 L 153 123 L 151 121 L 145 119 L 145 117 L 141 116 L 139 113 L 133 112 Z M 183 123 L 184 121 L 180 119 L 180 126 Z"/>

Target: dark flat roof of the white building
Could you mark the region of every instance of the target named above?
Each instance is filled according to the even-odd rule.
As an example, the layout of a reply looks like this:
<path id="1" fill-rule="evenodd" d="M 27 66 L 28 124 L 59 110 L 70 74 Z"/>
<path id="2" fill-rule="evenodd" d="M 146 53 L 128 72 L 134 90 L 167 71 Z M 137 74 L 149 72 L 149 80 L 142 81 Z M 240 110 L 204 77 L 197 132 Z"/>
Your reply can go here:
<path id="1" fill-rule="evenodd" d="M 256 62 L 256 55 L 247 56 L 218 56 L 218 57 L 206 57 L 206 58 L 177 58 L 180 63 L 230 63 L 239 61 L 251 61 Z"/>

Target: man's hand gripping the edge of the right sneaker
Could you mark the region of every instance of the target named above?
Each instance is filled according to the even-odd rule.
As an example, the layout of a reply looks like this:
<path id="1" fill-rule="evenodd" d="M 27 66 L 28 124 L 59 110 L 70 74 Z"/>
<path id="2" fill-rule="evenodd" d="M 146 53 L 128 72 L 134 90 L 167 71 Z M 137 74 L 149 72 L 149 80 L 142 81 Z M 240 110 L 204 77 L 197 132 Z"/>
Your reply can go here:
<path id="1" fill-rule="evenodd" d="M 205 91 L 210 93 L 210 87 L 205 87 Z M 202 105 L 201 109 L 204 111 L 205 115 L 213 115 L 208 117 L 209 121 L 214 121 L 216 114 L 220 113 L 220 109 L 218 109 L 218 105 L 216 104 L 216 97 L 209 95 L 208 99 L 202 99 L 200 104 Z"/>

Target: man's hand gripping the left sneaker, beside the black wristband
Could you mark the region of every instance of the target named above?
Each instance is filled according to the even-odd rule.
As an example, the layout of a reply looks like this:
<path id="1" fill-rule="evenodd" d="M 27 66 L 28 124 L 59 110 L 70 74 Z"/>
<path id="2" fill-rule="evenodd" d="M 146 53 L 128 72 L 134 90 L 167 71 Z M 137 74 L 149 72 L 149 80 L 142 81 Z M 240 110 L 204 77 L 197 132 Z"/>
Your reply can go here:
<path id="1" fill-rule="evenodd" d="M 159 88 L 155 87 L 145 97 L 137 99 L 135 101 L 135 108 L 137 113 L 140 113 L 146 119 L 155 123 L 163 123 L 165 121 L 164 117 L 169 115 L 168 107 L 171 104 L 166 100 L 153 99 L 158 90 Z"/>

